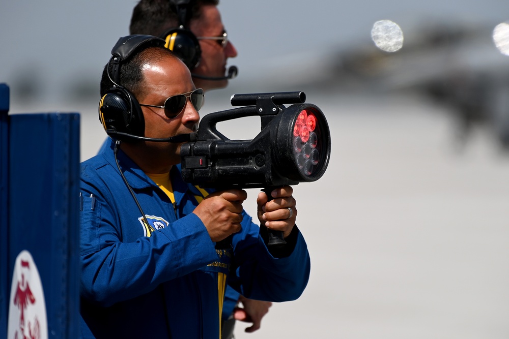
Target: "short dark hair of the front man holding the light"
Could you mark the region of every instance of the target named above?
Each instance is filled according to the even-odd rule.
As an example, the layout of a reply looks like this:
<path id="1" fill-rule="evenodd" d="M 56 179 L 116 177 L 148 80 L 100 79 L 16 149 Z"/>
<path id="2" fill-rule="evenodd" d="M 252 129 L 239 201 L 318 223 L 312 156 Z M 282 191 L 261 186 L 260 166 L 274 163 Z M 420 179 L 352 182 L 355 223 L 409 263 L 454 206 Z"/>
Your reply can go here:
<path id="1" fill-rule="evenodd" d="M 136 98 L 145 95 L 143 66 L 149 61 L 159 61 L 167 56 L 180 60 L 171 50 L 162 46 L 151 46 L 134 53 L 129 57 L 129 59 L 123 61 L 120 64 L 120 79 L 118 81 L 118 85 L 126 88 Z M 109 75 L 112 76 L 112 66 L 108 63 L 106 66 L 104 66 L 104 70 L 102 72 L 100 86 L 101 97 L 104 96 L 106 92 L 113 86 L 113 83 L 108 77 L 108 73 L 106 73 L 108 66 L 110 72 Z"/>

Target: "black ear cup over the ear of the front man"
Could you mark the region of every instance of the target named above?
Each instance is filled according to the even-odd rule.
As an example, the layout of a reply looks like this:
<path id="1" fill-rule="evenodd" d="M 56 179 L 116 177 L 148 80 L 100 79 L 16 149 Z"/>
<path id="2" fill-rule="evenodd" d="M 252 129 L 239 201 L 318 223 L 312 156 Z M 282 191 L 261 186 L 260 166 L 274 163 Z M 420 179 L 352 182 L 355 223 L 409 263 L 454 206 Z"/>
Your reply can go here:
<path id="1" fill-rule="evenodd" d="M 106 133 L 115 131 L 136 136 L 144 136 L 145 119 L 142 108 L 127 89 L 109 90 L 99 102 L 99 119 Z M 125 141 L 128 137 L 111 135 Z"/>

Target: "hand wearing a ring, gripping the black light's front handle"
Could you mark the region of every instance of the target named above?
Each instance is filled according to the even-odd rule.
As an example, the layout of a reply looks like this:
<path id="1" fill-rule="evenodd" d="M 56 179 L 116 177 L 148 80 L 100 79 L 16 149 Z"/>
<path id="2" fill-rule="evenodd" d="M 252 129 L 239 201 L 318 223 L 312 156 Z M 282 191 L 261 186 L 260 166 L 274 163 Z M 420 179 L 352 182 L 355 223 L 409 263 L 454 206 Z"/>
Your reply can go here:
<path id="1" fill-rule="evenodd" d="M 268 229 L 282 231 L 286 238 L 292 232 L 297 218 L 293 189 L 283 186 L 271 192 L 273 200 L 268 199 L 264 192 L 258 195 L 258 220 L 260 225 Z M 290 209 L 292 210 L 290 212 Z"/>

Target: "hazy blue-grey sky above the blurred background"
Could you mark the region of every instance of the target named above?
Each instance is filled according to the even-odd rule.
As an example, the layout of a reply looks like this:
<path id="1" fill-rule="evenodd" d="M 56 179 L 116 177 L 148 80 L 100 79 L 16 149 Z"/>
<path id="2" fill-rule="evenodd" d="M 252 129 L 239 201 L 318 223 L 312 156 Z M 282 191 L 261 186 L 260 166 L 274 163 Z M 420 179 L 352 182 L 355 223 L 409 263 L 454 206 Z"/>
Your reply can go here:
<path id="1" fill-rule="evenodd" d="M 3 0 L 0 82 L 28 78 L 49 100 L 80 79 L 98 79 L 111 47 L 128 35 L 137 0 Z M 230 65 L 247 79 L 285 55 L 307 58 L 370 41 L 373 23 L 390 19 L 412 32 L 436 21 L 509 19 L 505 0 L 221 0 L 223 22 L 239 56 Z M 60 94 L 60 96 L 59 96 Z"/>

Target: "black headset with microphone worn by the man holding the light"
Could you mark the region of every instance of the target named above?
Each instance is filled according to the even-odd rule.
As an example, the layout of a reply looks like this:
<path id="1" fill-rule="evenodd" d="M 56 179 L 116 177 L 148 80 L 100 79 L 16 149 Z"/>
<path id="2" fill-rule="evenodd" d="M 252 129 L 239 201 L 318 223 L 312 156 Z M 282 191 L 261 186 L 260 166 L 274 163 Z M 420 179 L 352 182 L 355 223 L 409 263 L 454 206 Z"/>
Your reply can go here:
<path id="1" fill-rule="evenodd" d="M 112 87 L 99 102 L 99 120 L 106 134 L 115 140 L 146 140 L 159 142 L 189 141 L 182 134 L 166 139 L 146 138 L 142 108 L 134 95 L 120 85 L 120 66 L 136 53 L 153 46 L 164 46 L 164 40 L 150 35 L 130 35 L 119 39 L 111 50 L 106 72 Z"/>

